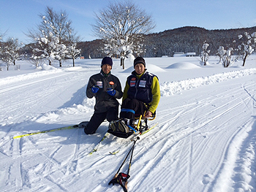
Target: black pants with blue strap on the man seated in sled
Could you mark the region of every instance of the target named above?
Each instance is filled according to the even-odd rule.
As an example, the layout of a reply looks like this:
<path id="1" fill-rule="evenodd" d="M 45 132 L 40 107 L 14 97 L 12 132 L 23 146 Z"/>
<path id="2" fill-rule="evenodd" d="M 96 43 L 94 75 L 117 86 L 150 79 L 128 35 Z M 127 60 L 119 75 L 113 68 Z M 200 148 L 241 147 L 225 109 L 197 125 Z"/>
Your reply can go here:
<path id="1" fill-rule="evenodd" d="M 134 112 L 127 112 L 124 109 Z M 127 98 L 121 104 L 120 118 L 135 119 L 135 115 L 143 115 L 146 110 L 147 107 L 142 101 Z"/>

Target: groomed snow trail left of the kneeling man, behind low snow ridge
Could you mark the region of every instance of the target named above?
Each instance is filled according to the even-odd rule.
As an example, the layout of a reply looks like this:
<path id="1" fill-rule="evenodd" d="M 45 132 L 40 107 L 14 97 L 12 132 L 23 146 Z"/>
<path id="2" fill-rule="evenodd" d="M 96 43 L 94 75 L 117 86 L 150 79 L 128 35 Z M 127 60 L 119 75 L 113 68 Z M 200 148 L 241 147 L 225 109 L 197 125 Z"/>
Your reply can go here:
<path id="1" fill-rule="evenodd" d="M 87 75 L 90 74 L 91 72 Z M 38 115 L 40 112 L 46 114 L 49 110 L 64 109 L 65 107 L 72 107 L 74 104 L 82 104 L 87 81 L 84 69 L 75 72 L 54 70 L 44 76 L 42 74 L 38 77 L 36 74 L 31 76 L 34 76 L 32 80 L 16 80 L 12 84 L 1 87 L 0 110 L 7 111 L 7 113 L 0 114 L 0 125 L 21 122 L 21 125 L 14 126 L 17 128 L 17 126 L 23 125 L 22 122 L 34 121 L 35 118 L 38 118 L 38 116 L 34 117 L 34 111 Z M 74 87 L 74 84 L 78 85 Z M 47 119 L 47 117 L 45 118 Z M 51 115 L 48 120 L 54 120 L 54 116 Z M 39 121 L 37 120 L 37 122 Z M 73 122 L 75 120 L 67 121 L 67 123 Z M 65 122 L 62 121 L 62 123 Z M 20 131 L 20 128 L 18 130 Z M 37 131 L 38 128 L 34 126 L 31 131 L 33 130 Z"/>

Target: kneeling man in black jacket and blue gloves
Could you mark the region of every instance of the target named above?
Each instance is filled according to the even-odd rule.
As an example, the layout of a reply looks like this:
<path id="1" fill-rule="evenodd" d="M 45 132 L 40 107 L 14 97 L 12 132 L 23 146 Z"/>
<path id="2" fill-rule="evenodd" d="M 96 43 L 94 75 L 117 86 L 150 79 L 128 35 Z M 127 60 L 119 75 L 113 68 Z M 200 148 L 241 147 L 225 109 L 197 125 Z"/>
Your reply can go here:
<path id="1" fill-rule="evenodd" d="M 94 115 L 84 128 L 86 134 L 94 134 L 100 124 L 107 119 L 118 120 L 118 101 L 123 96 L 121 83 L 116 76 L 111 74 L 113 61 L 109 57 L 102 59 L 101 71 L 90 77 L 86 96 L 95 97 Z"/>

